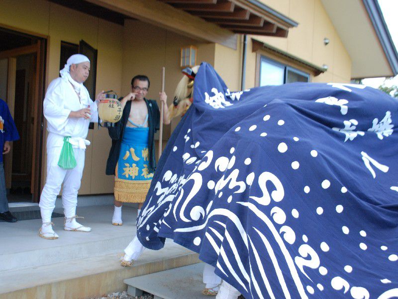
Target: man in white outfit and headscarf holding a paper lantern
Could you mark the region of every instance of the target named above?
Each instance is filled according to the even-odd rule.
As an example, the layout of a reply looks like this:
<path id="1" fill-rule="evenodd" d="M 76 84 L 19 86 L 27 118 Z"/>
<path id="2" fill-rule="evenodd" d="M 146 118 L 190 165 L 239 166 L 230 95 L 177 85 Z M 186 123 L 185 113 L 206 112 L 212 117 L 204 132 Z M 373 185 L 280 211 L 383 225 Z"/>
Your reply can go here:
<path id="1" fill-rule="evenodd" d="M 83 82 L 90 72 L 90 60 L 81 54 L 69 57 L 60 71 L 61 77 L 53 80 L 47 88 L 44 98 L 44 117 L 47 120 L 47 178 L 40 196 L 42 226 L 39 236 L 44 239 L 57 239 L 51 222 L 55 200 L 61 190 L 67 231 L 90 232 L 91 228 L 76 221 L 77 195 L 83 174 L 86 140 L 90 122 L 98 122 L 98 104 L 104 99 L 101 92 L 96 101 L 90 95 Z M 76 166 L 64 169 L 58 166 L 64 138 L 70 137 Z"/>

